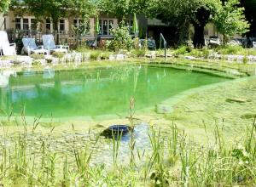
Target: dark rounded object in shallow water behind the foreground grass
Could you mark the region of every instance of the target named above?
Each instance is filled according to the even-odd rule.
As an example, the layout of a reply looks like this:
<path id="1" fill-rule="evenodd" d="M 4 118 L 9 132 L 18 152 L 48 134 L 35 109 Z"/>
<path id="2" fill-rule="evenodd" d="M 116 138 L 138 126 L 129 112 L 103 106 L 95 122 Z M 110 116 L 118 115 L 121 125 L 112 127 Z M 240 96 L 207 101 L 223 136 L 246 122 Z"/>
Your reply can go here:
<path id="1" fill-rule="evenodd" d="M 117 138 L 118 136 L 129 133 L 131 131 L 131 127 L 128 125 L 113 125 L 105 129 L 101 135 L 107 139 Z"/>

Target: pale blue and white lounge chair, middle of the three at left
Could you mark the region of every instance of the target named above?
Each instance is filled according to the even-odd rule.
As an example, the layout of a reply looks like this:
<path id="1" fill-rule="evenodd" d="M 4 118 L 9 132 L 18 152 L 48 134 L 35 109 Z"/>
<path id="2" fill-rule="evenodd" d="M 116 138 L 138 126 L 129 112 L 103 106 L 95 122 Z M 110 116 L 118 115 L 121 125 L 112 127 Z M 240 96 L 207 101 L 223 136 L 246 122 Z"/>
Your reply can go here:
<path id="1" fill-rule="evenodd" d="M 24 46 L 22 54 L 48 54 L 48 50 L 44 49 L 44 46 L 37 46 L 35 38 L 22 38 L 22 43 Z"/>

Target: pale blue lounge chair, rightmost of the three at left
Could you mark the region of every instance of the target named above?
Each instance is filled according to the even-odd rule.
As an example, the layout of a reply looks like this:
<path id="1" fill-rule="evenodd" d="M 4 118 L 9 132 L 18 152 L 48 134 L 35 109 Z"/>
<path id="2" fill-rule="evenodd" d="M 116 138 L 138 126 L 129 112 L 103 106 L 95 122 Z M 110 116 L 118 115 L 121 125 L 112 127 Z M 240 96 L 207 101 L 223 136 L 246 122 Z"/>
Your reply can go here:
<path id="1" fill-rule="evenodd" d="M 50 52 L 66 53 L 69 50 L 69 46 L 55 45 L 55 39 L 53 35 L 43 35 L 44 48 Z"/>

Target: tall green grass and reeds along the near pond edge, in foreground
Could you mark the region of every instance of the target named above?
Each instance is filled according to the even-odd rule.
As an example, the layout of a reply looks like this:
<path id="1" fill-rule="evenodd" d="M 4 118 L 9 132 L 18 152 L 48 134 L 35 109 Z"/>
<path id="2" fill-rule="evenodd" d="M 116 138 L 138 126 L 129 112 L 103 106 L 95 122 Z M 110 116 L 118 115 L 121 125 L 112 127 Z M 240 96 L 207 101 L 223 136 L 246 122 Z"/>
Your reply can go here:
<path id="1" fill-rule="evenodd" d="M 130 120 L 134 125 L 131 99 Z M 9 134 L 3 126 L 0 144 L 0 185 L 3 186 L 253 186 L 256 184 L 256 119 L 247 127 L 239 142 L 225 139 L 223 128 L 215 125 L 213 142 L 195 143 L 174 123 L 168 129 L 152 127 L 148 132 L 150 149 L 145 159 L 135 156 L 135 144 L 130 143 L 131 159 L 128 165 L 119 164 L 122 149 L 120 139 L 113 140 L 114 169 L 96 160 L 94 144 L 84 149 L 73 143 L 73 153 L 63 154 L 49 148 L 53 136 L 51 128 L 39 142 L 40 149 L 32 149 L 33 134 L 38 133 L 38 119 L 32 128 L 26 118 L 23 132 Z M 73 129 L 74 130 L 74 129 Z M 170 135 L 166 136 L 169 132 Z M 164 135 L 165 134 L 165 135 Z M 73 133 L 73 139 L 76 139 Z M 38 144 L 38 142 L 37 142 Z M 139 152 L 139 151 L 138 151 Z M 139 157 L 139 158 L 137 158 Z M 137 164 L 140 162 L 140 164 Z"/>

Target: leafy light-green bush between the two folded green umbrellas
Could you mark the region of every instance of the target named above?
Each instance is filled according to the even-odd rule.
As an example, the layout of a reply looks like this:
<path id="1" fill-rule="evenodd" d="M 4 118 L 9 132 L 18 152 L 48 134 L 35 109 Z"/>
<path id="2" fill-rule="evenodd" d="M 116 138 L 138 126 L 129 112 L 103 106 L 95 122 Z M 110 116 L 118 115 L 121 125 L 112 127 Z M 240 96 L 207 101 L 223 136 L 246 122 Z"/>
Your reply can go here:
<path id="1" fill-rule="evenodd" d="M 119 51 L 119 49 L 130 50 L 133 48 L 133 41 L 129 33 L 128 27 L 118 26 L 116 29 L 111 30 L 113 40 L 107 43 L 109 49 Z"/>

